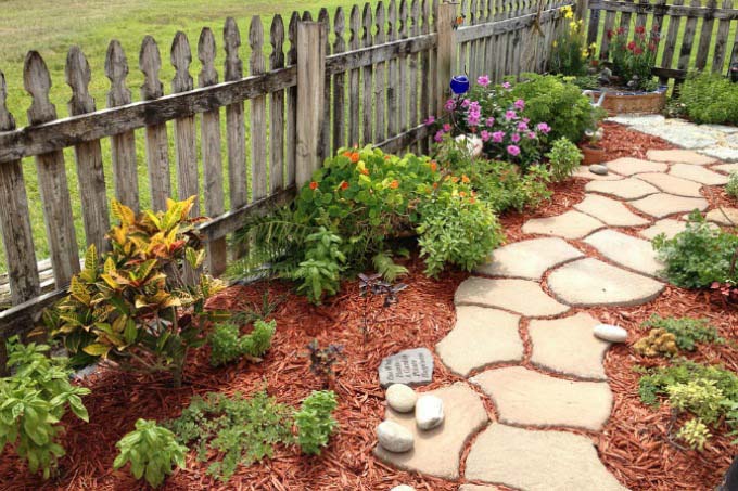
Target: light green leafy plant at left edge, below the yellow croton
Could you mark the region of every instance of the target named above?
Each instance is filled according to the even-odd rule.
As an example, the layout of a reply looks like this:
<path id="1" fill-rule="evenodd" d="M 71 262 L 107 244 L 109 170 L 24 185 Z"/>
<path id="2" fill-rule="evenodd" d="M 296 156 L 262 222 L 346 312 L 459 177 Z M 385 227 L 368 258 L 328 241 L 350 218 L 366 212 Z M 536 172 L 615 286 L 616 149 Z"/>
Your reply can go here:
<path id="1" fill-rule="evenodd" d="M 47 357 L 49 346 L 24 346 L 13 336 L 7 347 L 8 367 L 15 372 L 0 379 L 0 450 L 14 445 L 30 471 L 40 469 L 48 479 L 58 458 L 65 454 L 59 444 L 63 431 L 60 419 L 68 408 L 89 422 L 81 396 L 90 390 L 69 383 L 72 370 L 65 361 Z"/>

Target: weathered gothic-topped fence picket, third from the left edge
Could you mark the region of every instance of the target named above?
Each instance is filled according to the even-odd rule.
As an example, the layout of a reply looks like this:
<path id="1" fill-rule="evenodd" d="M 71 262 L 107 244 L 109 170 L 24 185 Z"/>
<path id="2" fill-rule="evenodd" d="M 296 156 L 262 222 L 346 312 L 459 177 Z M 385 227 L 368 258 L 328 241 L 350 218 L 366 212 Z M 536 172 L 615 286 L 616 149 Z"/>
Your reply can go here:
<path id="1" fill-rule="evenodd" d="M 72 47 L 66 56 L 66 83 L 72 88 L 69 115 L 79 116 L 94 112 L 94 100 L 90 95 L 89 85 L 92 78 L 90 64 L 78 47 Z M 102 169 L 102 150 L 100 140 L 75 145 L 77 160 L 77 180 L 79 197 L 82 204 L 82 222 L 87 245 L 94 245 L 98 250 L 110 248 L 105 234 L 110 229 L 107 215 L 107 196 L 105 194 L 105 176 Z"/>

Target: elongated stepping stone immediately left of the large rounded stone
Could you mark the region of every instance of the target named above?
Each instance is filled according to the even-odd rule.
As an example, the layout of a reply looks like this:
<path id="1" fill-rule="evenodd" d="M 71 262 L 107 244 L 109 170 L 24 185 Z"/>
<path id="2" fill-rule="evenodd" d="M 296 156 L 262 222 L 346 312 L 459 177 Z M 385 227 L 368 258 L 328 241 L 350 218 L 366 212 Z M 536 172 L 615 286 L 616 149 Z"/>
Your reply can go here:
<path id="1" fill-rule="evenodd" d="M 530 318 L 559 315 L 569 310 L 527 280 L 487 280 L 472 276 L 456 289 L 457 306 L 492 307 Z"/>

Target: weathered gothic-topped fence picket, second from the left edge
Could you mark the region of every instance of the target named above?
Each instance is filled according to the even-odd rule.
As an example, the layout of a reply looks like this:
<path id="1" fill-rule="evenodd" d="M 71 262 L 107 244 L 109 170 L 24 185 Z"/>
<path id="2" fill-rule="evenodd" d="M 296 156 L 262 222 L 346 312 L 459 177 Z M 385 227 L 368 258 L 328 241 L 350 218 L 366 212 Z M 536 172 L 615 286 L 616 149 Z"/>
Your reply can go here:
<path id="1" fill-rule="evenodd" d="M 33 98 L 33 103 L 28 108 L 29 124 L 40 125 L 56 119 L 56 107 L 49 101 L 51 89 L 49 69 L 36 51 L 29 51 L 26 55 L 23 83 Z M 69 186 L 64 170 L 64 154 L 61 150 L 56 150 L 36 156 L 36 170 L 51 266 L 54 270 L 54 285 L 56 288 L 63 288 L 79 271 L 77 235 L 74 230 Z"/>

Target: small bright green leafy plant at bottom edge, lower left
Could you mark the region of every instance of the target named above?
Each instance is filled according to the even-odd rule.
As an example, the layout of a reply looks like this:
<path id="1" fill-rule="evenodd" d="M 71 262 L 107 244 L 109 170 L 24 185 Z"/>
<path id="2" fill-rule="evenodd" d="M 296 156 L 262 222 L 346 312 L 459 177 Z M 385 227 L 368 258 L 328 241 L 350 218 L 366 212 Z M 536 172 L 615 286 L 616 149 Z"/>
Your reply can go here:
<path id="1" fill-rule="evenodd" d="M 175 465 L 184 468 L 184 454 L 188 452 L 187 447 L 177 442 L 175 434 L 147 419 L 138 419 L 136 429 L 115 447 L 120 453 L 115 457 L 113 467 L 119 469 L 130 462 L 130 474 L 136 479 L 144 478 L 153 488 L 164 482 Z"/>

